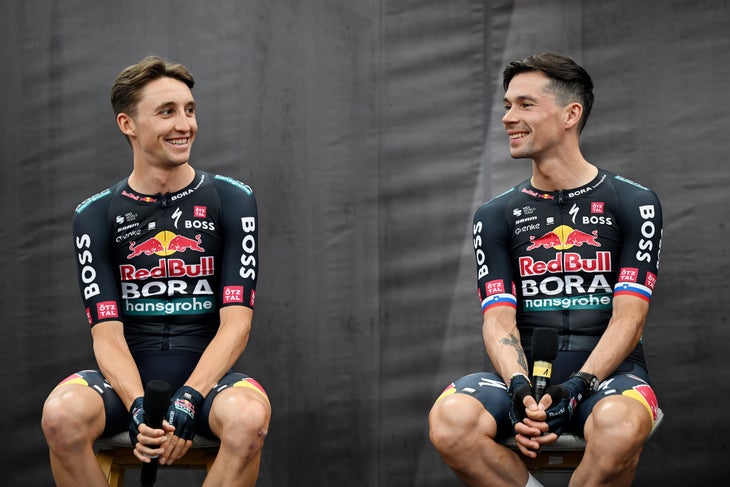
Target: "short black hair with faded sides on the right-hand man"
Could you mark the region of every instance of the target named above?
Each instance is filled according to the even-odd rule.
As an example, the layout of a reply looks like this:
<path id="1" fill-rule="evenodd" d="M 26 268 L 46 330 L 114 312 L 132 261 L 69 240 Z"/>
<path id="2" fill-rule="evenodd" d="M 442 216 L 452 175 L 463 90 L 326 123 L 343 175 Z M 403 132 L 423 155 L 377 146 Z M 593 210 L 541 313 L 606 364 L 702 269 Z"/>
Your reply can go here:
<path id="1" fill-rule="evenodd" d="M 558 103 L 567 105 L 578 102 L 583 114 L 578 123 L 578 133 L 583 131 L 593 108 L 593 81 L 588 72 L 572 59 L 560 54 L 540 53 L 520 61 L 513 61 L 504 68 L 504 90 L 520 73 L 538 72 L 550 78 L 547 89 L 555 94 Z"/>

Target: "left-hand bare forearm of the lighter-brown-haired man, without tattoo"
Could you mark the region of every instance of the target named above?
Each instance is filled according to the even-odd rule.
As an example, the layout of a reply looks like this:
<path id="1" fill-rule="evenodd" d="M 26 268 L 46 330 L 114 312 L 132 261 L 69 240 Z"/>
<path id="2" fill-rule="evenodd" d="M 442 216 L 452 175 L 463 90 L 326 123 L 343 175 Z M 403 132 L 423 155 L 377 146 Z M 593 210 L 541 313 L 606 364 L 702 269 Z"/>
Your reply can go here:
<path id="1" fill-rule="evenodd" d="M 92 328 L 92 336 L 99 369 L 129 409 L 137 397 L 144 395 L 144 386 L 124 339 L 122 323 L 100 323 Z"/>

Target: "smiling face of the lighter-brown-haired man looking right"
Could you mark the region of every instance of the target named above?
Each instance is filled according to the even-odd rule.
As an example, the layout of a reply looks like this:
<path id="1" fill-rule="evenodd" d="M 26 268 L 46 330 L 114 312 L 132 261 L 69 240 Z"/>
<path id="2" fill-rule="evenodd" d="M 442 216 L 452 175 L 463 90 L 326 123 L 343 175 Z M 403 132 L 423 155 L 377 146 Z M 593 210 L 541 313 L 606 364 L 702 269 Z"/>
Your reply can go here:
<path id="1" fill-rule="evenodd" d="M 140 92 L 136 113 L 120 113 L 117 123 L 129 137 L 135 164 L 173 168 L 190 159 L 198 124 L 193 94 L 182 81 L 150 81 Z"/>

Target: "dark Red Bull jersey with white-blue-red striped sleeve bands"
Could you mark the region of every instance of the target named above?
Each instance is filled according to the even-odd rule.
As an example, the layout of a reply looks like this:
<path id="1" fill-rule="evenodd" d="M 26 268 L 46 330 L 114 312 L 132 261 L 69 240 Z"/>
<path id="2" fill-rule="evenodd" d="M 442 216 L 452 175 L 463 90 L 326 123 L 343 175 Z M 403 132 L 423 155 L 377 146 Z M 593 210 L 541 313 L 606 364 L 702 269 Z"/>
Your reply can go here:
<path id="1" fill-rule="evenodd" d="M 560 350 L 590 351 L 613 296 L 651 298 L 661 233 L 656 195 L 621 176 L 599 170 L 589 184 L 555 192 L 524 181 L 474 216 L 482 310 L 516 308 L 528 357 L 537 327 L 555 328 Z M 641 344 L 628 360 L 644 365 Z"/>

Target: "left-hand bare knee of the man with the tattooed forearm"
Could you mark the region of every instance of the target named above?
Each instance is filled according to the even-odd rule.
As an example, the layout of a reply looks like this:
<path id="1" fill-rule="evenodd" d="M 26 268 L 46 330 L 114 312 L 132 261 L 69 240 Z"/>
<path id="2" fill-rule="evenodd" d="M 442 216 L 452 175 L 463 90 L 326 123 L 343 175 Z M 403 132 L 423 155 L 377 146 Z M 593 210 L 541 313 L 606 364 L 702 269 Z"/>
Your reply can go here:
<path id="1" fill-rule="evenodd" d="M 469 441 L 470 435 L 479 432 L 480 412 L 476 402 L 463 394 L 452 394 L 440 399 L 428 415 L 429 438 L 439 452 L 448 453 Z M 481 405 L 480 405 L 481 406 Z"/>

